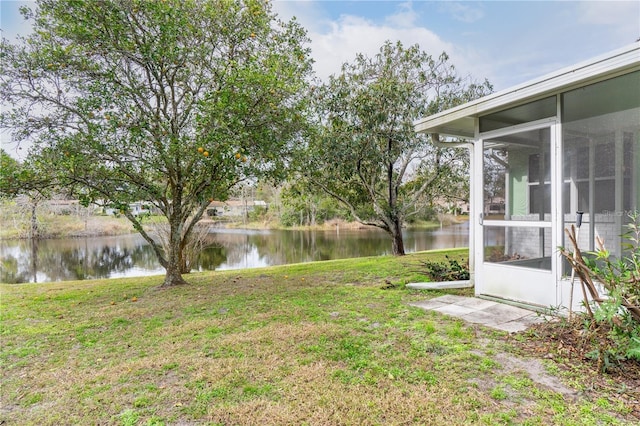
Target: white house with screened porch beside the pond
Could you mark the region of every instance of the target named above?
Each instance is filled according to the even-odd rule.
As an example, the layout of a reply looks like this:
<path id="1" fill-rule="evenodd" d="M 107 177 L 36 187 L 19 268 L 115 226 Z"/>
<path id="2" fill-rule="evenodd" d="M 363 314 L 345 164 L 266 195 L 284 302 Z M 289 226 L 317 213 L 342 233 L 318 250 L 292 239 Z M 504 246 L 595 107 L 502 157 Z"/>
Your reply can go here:
<path id="1" fill-rule="evenodd" d="M 564 229 L 578 216 L 581 249 L 594 250 L 600 237 L 624 255 L 628 214 L 640 210 L 639 42 L 425 117 L 415 129 L 471 151 L 476 295 L 545 308 L 573 300 L 578 309 L 580 286 L 558 251 L 570 246 Z"/>

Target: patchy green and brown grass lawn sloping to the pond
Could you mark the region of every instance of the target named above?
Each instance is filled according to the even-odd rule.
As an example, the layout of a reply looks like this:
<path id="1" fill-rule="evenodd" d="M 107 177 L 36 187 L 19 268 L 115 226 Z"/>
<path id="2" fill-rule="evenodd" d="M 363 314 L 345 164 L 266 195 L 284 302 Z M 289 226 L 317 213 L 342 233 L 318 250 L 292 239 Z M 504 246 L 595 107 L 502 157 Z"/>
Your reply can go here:
<path id="1" fill-rule="evenodd" d="M 198 273 L 171 289 L 162 277 L 1 285 L 0 424 L 638 421 L 615 389 L 520 359 L 526 337 L 408 306 L 443 294 L 404 284 L 444 253 L 464 252 Z M 533 361 L 575 392 L 533 378 Z"/>

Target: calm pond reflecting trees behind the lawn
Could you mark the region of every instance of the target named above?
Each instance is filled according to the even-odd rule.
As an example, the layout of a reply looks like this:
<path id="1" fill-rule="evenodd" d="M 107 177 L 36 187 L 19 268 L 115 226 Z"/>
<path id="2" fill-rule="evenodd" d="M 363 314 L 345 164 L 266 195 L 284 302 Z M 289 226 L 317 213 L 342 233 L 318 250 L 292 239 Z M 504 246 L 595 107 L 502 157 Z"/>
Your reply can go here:
<path id="1" fill-rule="evenodd" d="M 405 230 L 407 253 L 467 247 L 468 223 L 435 230 Z M 391 252 L 379 230 L 246 230 L 212 228 L 194 271 L 255 268 Z M 139 235 L 0 241 L 0 282 L 51 282 L 164 274 Z"/>

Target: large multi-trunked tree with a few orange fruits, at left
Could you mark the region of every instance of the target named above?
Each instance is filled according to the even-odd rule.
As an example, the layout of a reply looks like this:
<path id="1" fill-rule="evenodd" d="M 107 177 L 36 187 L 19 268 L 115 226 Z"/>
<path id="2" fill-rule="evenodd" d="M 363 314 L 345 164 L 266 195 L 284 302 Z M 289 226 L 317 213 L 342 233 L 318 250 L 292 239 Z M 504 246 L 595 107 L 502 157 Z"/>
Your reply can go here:
<path id="1" fill-rule="evenodd" d="M 305 31 L 267 0 L 40 0 L 33 34 L 2 41 L 2 126 L 34 142 L 87 203 L 116 206 L 154 248 L 164 285 L 210 200 L 278 176 L 304 128 Z M 129 211 L 153 204 L 168 245 Z"/>

